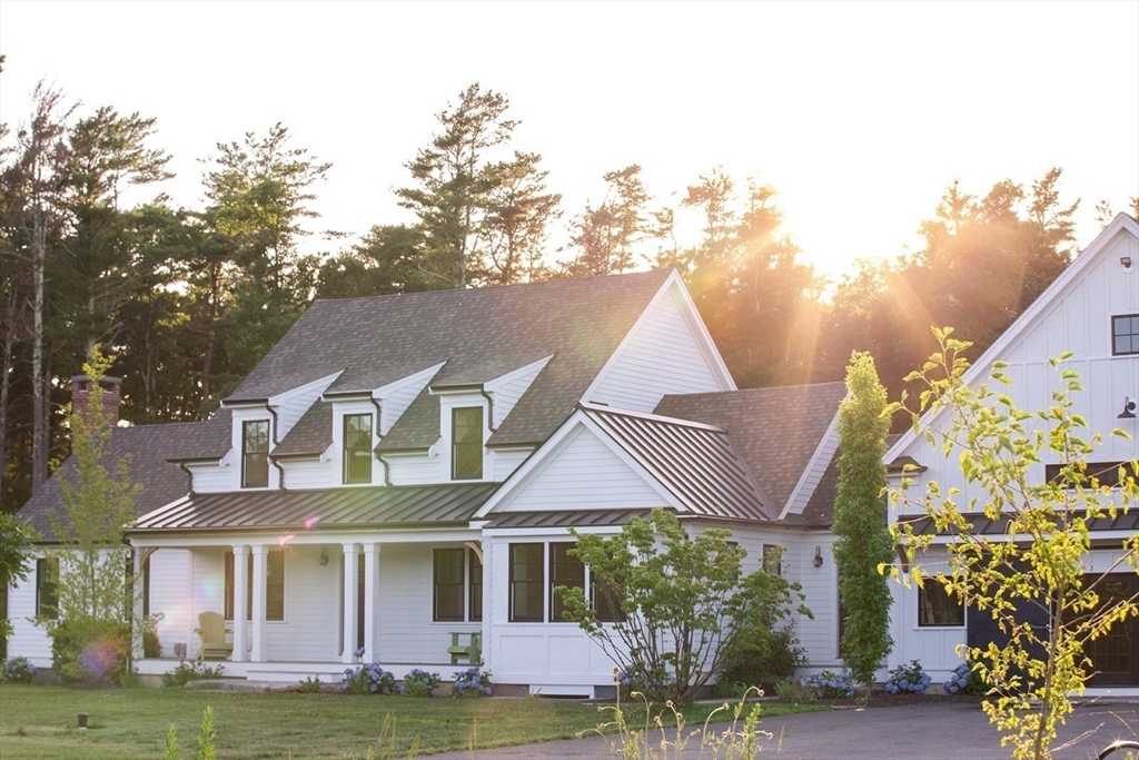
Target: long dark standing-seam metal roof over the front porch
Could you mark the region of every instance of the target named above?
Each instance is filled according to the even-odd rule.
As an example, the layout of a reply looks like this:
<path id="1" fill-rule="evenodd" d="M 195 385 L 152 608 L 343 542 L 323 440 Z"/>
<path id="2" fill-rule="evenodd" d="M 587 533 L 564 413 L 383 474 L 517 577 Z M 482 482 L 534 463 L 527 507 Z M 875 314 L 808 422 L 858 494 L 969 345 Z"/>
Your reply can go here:
<path id="1" fill-rule="evenodd" d="M 196 493 L 144 515 L 131 532 L 466 523 L 498 487 L 448 483 Z"/>

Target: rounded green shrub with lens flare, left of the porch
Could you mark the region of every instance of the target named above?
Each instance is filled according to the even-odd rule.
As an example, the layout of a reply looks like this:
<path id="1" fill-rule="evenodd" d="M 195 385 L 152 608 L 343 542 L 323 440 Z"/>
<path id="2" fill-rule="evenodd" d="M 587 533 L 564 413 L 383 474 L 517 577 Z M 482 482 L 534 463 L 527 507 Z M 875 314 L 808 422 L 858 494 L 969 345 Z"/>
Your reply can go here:
<path id="1" fill-rule="evenodd" d="M 131 627 L 115 621 L 60 621 L 51 628 L 51 663 L 65 680 L 118 683 L 126 672 Z"/>

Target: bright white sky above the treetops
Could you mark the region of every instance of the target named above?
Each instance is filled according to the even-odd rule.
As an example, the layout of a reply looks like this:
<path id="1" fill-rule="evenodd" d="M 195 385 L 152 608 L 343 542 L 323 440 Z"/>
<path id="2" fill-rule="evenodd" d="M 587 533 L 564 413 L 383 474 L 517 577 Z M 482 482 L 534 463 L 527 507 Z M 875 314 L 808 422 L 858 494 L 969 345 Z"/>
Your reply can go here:
<path id="1" fill-rule="evenodd" d="M 410 221 L 392 189 L 472 82 L 506 95 L 567 216 L 644 166 L 675 204 L 713 165 L 780 194 L 821 270 L 901 253 L 949 183 L 1064 169 L 1077 240 L 1139 194 L 1139 2 L 0 0 L 0 120 L 46 79 L 156 116 L 175 204 L 197 160 L 281 122 L 333 162 L 320 229 Z M 557 236 L 551 244 L 564 243 Z M 313 243 L 319 250 L 339 244 Z"/>

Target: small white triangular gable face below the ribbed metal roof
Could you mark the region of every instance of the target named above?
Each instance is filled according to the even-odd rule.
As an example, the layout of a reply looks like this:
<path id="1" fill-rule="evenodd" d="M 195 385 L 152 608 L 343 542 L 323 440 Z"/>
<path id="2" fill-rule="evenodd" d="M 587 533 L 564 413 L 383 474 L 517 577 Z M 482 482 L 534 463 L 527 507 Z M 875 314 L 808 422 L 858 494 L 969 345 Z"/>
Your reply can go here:
<path id="1" fill-rule="evenodd" d="M 530 475 L 502 512 L 649 508 L 664 498 L 592 431 L 577 427 L 556 456 Z"/>

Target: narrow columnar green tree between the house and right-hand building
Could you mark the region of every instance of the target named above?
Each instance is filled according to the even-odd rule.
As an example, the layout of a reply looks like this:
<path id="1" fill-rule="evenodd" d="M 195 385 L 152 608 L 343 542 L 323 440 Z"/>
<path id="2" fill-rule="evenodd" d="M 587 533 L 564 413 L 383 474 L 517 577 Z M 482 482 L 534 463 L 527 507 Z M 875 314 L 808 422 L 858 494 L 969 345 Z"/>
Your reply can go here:
<path id="1" fill-rule="evenodd" d="M 879 566 L 893 556 L 886 520 L 886 390 L 874 359 L 854 353 L 846 369 L 847 398 L 838 408 L 837 537 L 831 551 L 838 570 L 838 598 L 847 616 L 841 653 L 858 684 L 874 683 L 894 643 L 890 637 L 890 588 Z"/>

